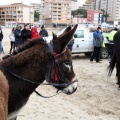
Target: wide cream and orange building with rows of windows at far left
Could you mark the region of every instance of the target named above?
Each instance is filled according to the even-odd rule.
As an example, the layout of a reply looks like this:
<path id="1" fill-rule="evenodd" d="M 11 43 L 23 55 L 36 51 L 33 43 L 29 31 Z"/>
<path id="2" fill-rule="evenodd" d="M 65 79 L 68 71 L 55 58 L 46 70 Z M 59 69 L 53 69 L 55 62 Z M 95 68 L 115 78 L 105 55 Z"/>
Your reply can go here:
<path id="1" fill-rule="evenodd" d="M 0 6 L 0 25 L 15 27 L 17 24 L 34 23 L 34 10 L 23 3 Z"/>

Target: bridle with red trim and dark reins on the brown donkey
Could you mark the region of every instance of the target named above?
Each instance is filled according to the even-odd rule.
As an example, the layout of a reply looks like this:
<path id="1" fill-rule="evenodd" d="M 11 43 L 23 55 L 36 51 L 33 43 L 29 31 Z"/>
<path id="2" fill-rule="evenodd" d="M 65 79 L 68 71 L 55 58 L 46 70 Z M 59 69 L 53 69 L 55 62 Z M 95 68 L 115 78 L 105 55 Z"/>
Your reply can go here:
<path id="1" fill-rule="evenodd" d="M 57 53 L 55 53 L 54 50 L 53 50 L 53 42 L 52 42 L 52 41 L 50 41 L 49 43 L 47 43 L 47 45 L 48 45 L 48 47 L 49 47 L 49 50 L 50 50 L 51 54 L 54 56 L 54 62 L 55 62 L 55 67 L 56 67 L 56 68 L 55 68 L 55 73 L 54 73 L 54 79 L 55 79 L 55 81 L 61 81 L 61 82 L 62 82 L 61 84 L 59 84 L 59 83 L 38 83 L 38 82 L 34 82 L 34 81 L 32 81 L 32 80 L 29 80 L 29 79 L 27 79 L 27 78 L 21 77 L 21 76 L 15 74 L 15 73 L 11 72 L 10 70 L 8 70 L 8 69 L 5 68 L 5 67 L 4 67 L 4 69 L 5 69 L 8 73 L 10 73 L 11 75 L 13 75 L 14 77 L 16 77 L 16 78 L 18 78 L 18 79 L 20 79 L 20 80 L 23 80 L 23 81 L 26 81 L 26 82 L 29 82 L 29 83 L 32 83 L 32 84 L 37 84 L 37 85 L 52 85 L 52 86 L 55 86 L 55 87 L 63 87 L 63 88 L 66 88 L 67 86 L 73 84 L 74 82 L 78 82 L 77 80 L 75 80 L 75 81 L 73 81 L 73 82 L 71 82 L 71 83 L 69 83 L 69 84 L 68 84 L 68 83 L 65 83 L 65 81 L 62 80 L 61 76 L 59 75 L 59 73 L 61 74 L 61 70 L 60 70 L 59 63 L 58 63 L 58 57 L 59 57 L 61 54 L 63 54 L 63 53 L 66 51 L 66 49 L 65 49 L 62 53 L 57 54 Z M 59 72 L 59 73 L 58 73 L 58 72 Z M 63 82 L 64 82 L 64 83 L 63 83 Z M 51 97 L 53 97 L 53 96 L 56 96 L 56 95 L 62 93 L 62 91 L 60 91 L 60 92 L 57 91 L 57 93 L 56 93 L 55 95 L 47 97 L 47 96 L 41 95 L 41 94 L 38 93 L 36 90 L 35 90 L 34 92 L 35 92 L 37 95 L 39 95 L 39 96 L 41 96 L 41 97 L 43 97 L 43 98 L 51 98 Z"/>

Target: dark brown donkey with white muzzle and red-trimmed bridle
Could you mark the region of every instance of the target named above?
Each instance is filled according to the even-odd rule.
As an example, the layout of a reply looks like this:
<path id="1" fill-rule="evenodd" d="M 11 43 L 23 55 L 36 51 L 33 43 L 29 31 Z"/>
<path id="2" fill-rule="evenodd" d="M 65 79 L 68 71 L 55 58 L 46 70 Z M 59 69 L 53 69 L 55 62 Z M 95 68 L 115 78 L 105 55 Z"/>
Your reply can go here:
<path id="1" fill-rule="evenodd" d="M 47 43 L 42 37 L 30 39 L 12 53 L 3 57 L 0 70 L 9 84 L 8 120 L 16 120 L 30 95 L 45 80 L 65 94 L 77 89 L 78 80 L 73 71 L 71 52 L 67 48 L 74 28 L 67 27 L 59 37 Z"/>

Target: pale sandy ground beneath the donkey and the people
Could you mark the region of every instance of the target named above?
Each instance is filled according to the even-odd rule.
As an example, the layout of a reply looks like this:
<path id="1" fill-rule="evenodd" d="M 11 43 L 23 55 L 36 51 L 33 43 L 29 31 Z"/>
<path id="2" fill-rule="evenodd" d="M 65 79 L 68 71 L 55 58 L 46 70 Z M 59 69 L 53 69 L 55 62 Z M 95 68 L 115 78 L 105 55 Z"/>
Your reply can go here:
<path id="1" fill-rule="evenodd" d="M 10 29 L 3 30 L 5 52 L 9 51 Z M 90 63 L 84 55 L 73 55 L 74 71 L 79 80 L 72 95 L 59 94 L 45 99 L 33 93 L 18 120 L 120 120 L 120 91 L 116 85 L 115 70 L 107 77 L 108 60 Z M 39 86 L 41 94 L 56 92 L 51 86 Z"/>

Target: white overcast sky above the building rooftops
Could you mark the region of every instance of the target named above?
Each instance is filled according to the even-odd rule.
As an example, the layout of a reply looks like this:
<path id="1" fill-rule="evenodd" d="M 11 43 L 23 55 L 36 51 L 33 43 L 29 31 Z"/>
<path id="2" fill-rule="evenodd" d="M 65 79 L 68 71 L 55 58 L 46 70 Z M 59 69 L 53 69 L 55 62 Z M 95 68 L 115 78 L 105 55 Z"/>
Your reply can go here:
<path id="1" fill-rule="evenodd" d="M 40 3 L 40 0 L 0 0 L 0 5 L 8 5 L 17 2 L 23 2 L 24 4 L 29 5 L 30 3 Z M 82 5 L 85 0 L 78 0 L 79 4 Z"/>

